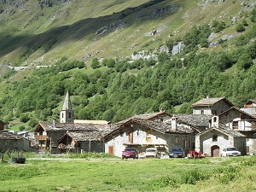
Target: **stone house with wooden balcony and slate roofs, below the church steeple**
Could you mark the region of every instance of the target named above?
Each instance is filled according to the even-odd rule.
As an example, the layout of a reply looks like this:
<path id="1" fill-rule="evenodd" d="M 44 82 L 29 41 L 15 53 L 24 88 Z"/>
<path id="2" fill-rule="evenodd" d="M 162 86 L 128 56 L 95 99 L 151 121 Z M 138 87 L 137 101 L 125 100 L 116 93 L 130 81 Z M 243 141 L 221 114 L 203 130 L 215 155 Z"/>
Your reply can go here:
<path id="1" fill-rule="evenodd" d="M 110 131 L 110 125 L 96 124 L 49 124 L 39 122 L 35 129 L 38 133 L 38 152 L 50 152 L 57 154 L 64 150 L 72 152 L 97 151 L 104 152 L 104 148 L 98 148 L 102 145 L 102 134 Z M 88 140 L 86 140 L 88 139 Z M 93 143 L 96 146 L 93 146 Z M 90 143 L 90 148 L 85 143 Z M 97 148 L 97 149 L 96 149 Z M 90 149 L 90 150 L 89 150 Z"/>

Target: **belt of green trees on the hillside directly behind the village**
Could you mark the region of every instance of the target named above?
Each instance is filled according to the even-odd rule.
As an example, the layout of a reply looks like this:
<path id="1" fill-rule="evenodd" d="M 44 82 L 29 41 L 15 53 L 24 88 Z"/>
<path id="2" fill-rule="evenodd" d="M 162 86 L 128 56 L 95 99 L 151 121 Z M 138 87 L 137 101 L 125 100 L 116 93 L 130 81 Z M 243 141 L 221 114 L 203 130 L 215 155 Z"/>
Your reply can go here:
<path id="1" fill-rule="evenodd" d="M 178 42 L 185 44 L 177 55 L 163 51 L 157 58 L 132 62 L 94 58 L 90 66 L 62 57 L 54 65 L 10 82 L 0 100 L 0 116 L 4 122 L 20 119 L 27 123 L 26 129 L 31 129 L 39 120 L 59 118 L 67 90 L 75 119 L 113 123 L 160 110 L 191 113 L 191 104 L 206 96 L 225 96 L 236 107 L 242 107 L 256 96 L 255 21 L 253 9 L 247 20 L 236 26 L 238 35 L 232 44 L 219 39 L 221 49 L 214 52 L 207 49 L 207 38 L 226 27 L 217 20 L 212 26 L 193 26 L 183 38 L 166 41 L 169 49 Z M 1 80 L 8 81 L 15 73 L 11 70 Z"/>

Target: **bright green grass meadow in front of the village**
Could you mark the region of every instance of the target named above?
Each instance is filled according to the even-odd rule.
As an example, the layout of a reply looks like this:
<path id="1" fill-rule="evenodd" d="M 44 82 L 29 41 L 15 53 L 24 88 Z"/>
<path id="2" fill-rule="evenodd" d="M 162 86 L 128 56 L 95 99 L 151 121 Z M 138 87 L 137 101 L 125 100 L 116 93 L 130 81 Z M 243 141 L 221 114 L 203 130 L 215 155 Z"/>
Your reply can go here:
<path id="1" fill-rule="evenodd" d="M 0 162 L 0 191 L 255 191 L 256 156 L 26 158 Z"/>

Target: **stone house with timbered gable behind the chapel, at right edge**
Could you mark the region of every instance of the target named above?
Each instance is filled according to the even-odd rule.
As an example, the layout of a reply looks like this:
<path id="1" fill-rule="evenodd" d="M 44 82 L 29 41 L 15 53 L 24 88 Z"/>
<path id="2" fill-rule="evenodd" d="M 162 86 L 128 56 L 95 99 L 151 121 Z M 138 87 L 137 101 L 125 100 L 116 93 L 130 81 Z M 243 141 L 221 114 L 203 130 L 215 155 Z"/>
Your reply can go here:
<path id="1" fill-rule="evenodd" d="M 256 118 L 239 108 L 230 108 L 218 115 L 219 123 L 247 137 L 247 154 L 256 153 Z"/>

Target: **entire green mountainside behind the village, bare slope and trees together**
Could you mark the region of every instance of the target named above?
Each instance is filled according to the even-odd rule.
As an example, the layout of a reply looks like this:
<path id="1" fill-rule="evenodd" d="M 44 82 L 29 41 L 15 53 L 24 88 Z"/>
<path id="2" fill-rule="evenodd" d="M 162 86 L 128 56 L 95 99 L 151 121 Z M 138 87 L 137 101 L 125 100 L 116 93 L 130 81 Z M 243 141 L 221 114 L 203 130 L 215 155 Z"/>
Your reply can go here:
<path id="1" fill-rule="evenodd" d="M 0 117 L 9 128 L 58 118 L 67 90 L 76 119 L 112 122 L 160 109 L 191 113 L 207 95 L 236 107 L 255 98 L 253 1 L 0 5 Z"/>

